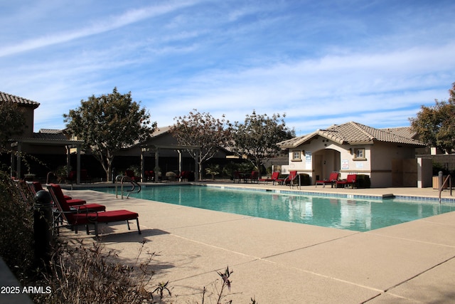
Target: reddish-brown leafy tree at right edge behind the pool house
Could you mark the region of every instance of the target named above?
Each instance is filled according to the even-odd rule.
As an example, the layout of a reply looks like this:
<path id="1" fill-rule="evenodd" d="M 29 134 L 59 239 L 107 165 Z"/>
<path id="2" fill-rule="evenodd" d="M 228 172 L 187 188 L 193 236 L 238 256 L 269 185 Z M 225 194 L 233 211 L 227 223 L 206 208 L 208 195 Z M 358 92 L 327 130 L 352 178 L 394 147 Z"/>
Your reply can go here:
<path id="1" fill-rule="evenodd" d="M 417 117 L 411 117 L 411 127 L 420 140 L 446 153 L 455 149 L 455 83 L 449 90 L 449 100 L 434 100 L 435 105 L 422 105 Z"/>

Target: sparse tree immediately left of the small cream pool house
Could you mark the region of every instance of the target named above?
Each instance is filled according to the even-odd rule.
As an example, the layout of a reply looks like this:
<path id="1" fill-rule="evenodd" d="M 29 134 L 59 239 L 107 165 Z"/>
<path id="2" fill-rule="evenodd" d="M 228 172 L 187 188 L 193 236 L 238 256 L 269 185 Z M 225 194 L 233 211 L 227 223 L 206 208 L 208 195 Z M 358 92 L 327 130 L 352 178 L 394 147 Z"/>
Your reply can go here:
<path id="1" fill-rule="evenodd" d="M 234 151 L 240 157 L 246 156 L 259 175 L 264 159 L 276 157 L 282 152 L 277 142 L 295 137 L 294 130 L 286 126 L 284 117 L 286 115 L 257 115 L 253 110 L 252 115 L 245 117 L 244 123 L 235 122 Z"/>

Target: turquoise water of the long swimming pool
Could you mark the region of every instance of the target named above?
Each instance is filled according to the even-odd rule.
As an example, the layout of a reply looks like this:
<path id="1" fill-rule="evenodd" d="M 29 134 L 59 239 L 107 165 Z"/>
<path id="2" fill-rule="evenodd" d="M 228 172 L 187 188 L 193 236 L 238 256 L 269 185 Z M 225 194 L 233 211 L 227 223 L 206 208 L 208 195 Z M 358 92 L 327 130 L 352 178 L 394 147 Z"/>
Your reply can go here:
<path id="1" fill-rule="evenodd" d="M 93 189 L 115 194 L 115 188 Z M 455 204 L 347 199 L 201 186 L 143 187 L 130 197 L 301 224 L 370 231 L 455 210 Z"/>

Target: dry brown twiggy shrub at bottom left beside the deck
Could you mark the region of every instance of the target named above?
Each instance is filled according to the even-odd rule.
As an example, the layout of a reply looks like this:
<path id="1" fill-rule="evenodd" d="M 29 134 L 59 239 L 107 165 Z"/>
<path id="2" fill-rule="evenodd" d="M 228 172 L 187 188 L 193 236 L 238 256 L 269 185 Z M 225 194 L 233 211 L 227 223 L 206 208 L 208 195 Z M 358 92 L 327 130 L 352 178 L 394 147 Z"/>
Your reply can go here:
<path id="1" fill-rule="evenodd" d="M 101 243 L 76 242 L 60 243 L 50 271 L 36 282 L 52 292 L 33 295 L 35 303 L 156 303 L 153 291 L 146 288 L 153 275 L 154 253 L 139 263 L 145 242 L 134 265 L 120 263 L 117 253 Z"/>

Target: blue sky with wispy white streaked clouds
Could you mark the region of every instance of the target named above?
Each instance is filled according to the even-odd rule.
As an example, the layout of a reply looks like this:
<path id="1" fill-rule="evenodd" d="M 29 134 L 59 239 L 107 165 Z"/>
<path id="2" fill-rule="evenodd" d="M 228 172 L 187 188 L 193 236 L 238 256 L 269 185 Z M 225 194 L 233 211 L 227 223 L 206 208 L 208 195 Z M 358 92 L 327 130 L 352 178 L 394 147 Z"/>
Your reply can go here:
<path id="1" fill-rule="evenodd" d="M 62 129 L 91 95 L 132 92 L 159 126 L 196 108 L 285 113 L 297 135 L 408 126 L 455 82 L 455 2 L 0 0 L 0 90 Z"/>

